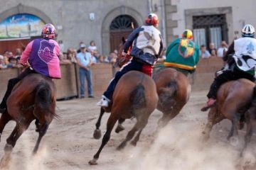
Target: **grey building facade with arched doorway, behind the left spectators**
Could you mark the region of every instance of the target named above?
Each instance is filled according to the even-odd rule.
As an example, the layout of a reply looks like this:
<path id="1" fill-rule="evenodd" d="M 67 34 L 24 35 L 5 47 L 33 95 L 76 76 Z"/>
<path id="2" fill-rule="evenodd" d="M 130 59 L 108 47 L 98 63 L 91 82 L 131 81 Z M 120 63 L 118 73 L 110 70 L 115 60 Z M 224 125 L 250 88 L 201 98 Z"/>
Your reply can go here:
<path id="1" fill-rule="evenodd" d="M 58 33 L 57 39 L 63 41 L 65 50 L 68 47 L 78 48 L 79 42 L 89 45 L 89 42 L 94 40 L 98 50 L 104 55 L 118 47 L 123 35 L 127 36 L 134 28 L 141 26 L 147 13 L 151 11 L 151 6 L 154 5 L 151 0 L 0 1 L 4 4 L 0 6 L 0 23 L 6 18 L 9 20 L 14 18 L 17 21 L 18 19 L 15 18 L 28 17 L 23 15 L 36 16 L 43 23 L 54 24 Z M 156 13 L 161 15 L 162 10 L 157 6 L 155 8 L 157 8 Z M 11 39 L 11 31 L 7 33 L 9 28 L 3 27 L 2 32 Z M 25 27 L 28 27 L 27 31 L 21 32 L 33 33 L 33 28 L 31 30 L 29 26 Z M 6 40 L 6 38 L 0 40 Z"/>

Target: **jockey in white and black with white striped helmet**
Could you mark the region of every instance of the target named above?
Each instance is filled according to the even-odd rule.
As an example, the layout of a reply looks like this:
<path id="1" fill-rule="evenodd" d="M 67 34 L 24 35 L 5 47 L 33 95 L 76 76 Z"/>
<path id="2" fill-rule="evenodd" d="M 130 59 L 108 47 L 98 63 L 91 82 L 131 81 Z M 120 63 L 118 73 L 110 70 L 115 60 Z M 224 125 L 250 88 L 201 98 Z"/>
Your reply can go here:
<path id="1" fill-rule="evenodd" d="M 249 79 L 255 81 L 256 67 L 256 39 L 254 38 L 255 28 L 247 24 L 242 28 L 242 38 L 234 40 L 228 47 L 223 60 L 228 63 L 228 68 L 216 77 L 210 86 L 207 94 L 208 101 L 201 111 L 207 111 L 216 101 L 217 91 L 221 84 L 230 80 Z"/>

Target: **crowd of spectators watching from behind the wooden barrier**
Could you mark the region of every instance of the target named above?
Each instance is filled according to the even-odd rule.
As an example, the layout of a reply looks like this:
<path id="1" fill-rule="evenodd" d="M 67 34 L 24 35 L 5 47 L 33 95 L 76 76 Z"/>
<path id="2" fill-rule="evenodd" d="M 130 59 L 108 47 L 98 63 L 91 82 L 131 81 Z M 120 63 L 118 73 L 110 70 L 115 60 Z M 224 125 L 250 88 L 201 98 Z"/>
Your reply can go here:
<path id="1" fill-rule="evenodd" d="M 80 45 L 85 45 L 84 42 L 80 42 Z M 77 63 L 77 55 L 80 52 L 80 48 L 76 50 L 73 47 L 69 47 L 67 51 L 64 51 L 63 42 L 60 42 L 60 64 L 72 64 Z M 117 60 L 117 50 L 110 52 L 109 55 L 102 55 L 97 49 L 95 41 L 91 41 L 88 46 L 85 45 L 86 52 L 90 52 L 90 60 L 92 64 L 98 63 L 110 63 L 114 64 Z M 220 47 L 215 48 L 213 42 L 210 42 L 209 48 L 206 45 L 201 45 L 201 58 L 206 59 L 209 57 L 223 57 L 225 52 L 228 50 L 228 44 L 225 41 L 220 42 Z M 5 51 L 3 55 L 0 55 L 0 69 L 6 68 L 20 68 L 21 49 L 16 48 L 15 54 L 10 51 Z"/>

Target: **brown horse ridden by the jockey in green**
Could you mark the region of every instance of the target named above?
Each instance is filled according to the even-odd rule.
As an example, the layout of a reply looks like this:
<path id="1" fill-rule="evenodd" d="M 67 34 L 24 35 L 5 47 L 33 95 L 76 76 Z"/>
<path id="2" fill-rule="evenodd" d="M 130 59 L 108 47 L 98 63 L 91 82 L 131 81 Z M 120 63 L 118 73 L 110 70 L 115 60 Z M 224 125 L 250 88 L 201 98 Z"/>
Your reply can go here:
<path id="1" fill-rule="evenodd" d="M 115 65 L 122 67 L 127 63 L 131 56 L 122 56 L 123 44 L 125 40 L 122 38 L 122 44 L 119 45 L 119 55 L 117 57 L 117 62 Z M 174 118 L 181 109 L 188 102 L 189 96 L 191 94 L 191 84 L 186 77 L 181 72 L 176 69 L 162 67 L 160 69 L 154 69 L 153 79 L 156 83 L 156 91 L 159 95 L 159 103 L 157 109 L 163 113 L 162 118 L 160 118 L 158 123 L 158 132 L 161 128 L 164 128 L 169 121 Z M 122 130 L 121 125 L 122 120 L 119 121 L 119 126 L 117 126 L 117 132 Z"/>

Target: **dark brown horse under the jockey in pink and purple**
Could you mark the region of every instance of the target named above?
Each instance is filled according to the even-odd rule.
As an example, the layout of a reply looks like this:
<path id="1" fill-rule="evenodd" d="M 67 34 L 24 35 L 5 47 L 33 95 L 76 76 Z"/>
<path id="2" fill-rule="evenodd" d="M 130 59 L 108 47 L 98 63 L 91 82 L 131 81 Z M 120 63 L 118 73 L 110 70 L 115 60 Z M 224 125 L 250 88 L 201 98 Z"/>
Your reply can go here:
<path id="1" fill-rule="evenodd" d="M 36 131 L 39 133 L 33 153 L 38 151 L 43 135 L 50 125 L 55 114 L 56 87 L 52 79 L 41 74 L 30 74 L 18 82 L 7 100 L 6 112 L 0 118 L 0 135 L 6 123 L 16 121 L 16 127 L 6 140 L 4 157 L 1 166 L 6 166 L 18 137 L 36 119 Z"/>

